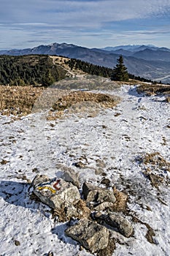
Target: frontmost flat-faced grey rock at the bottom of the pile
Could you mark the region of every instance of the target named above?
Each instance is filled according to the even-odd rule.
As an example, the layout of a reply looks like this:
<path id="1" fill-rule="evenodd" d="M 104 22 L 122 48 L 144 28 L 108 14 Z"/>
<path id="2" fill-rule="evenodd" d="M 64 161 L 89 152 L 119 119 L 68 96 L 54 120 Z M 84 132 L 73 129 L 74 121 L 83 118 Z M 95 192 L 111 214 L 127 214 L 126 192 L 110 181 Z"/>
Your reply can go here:
<path id="1" fill-rule="evenodd" d="M 106 248 L 109 243 L 109 230 L 87 218 L 80 219 L 77 224 L 65 230 L 65 233 L 92 253 Z"/>

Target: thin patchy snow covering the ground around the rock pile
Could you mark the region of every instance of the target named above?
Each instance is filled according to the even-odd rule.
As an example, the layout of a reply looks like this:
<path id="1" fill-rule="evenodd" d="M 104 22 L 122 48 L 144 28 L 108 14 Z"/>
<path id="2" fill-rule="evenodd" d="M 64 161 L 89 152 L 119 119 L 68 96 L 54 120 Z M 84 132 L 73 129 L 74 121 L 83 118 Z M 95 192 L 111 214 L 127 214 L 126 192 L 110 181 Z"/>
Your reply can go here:
<path id="1" fill-rule="evenodd" d="M 160 170 L 166 182 L 152 187 L 137 159 L 158 151 L 170 160 L 170 105 L 163 97 L 136 94 L 135 86 L 122 86 L 110 93 L 122 97 L 122 102 L 95 117 L 74 113 L 47 121 L 45 113 L 33 113 L 13 121 L 0 116 L 1 256 L 47 255 L 50 251 L 58 256 L 91 255 L 64 236 L 66 223 L 53 219 L 49 207 L 29 197 L 29 180 L 37 173 L 60 176 L 62 167 L 79 171 L 82 183 L 99 185 L 105 177 L 128 193 L 127 218 L 132 221 L 134 216 L 141 222 L 132 222 L 131 238 L 113 232 L 115 256 L 169 255 L 170 173 Z M 80 161 L 84 168 L 74 165 Z M 147 225 L 154 230 L 154 244 L 145 237 Z"/>

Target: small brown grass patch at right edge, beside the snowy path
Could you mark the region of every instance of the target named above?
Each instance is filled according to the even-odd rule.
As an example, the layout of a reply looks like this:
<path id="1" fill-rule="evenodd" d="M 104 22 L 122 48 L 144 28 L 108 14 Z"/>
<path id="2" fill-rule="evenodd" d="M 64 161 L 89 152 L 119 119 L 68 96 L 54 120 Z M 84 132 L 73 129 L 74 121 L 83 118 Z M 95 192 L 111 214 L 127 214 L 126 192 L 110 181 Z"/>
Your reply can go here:
<path id="1" fill-rule="evenodd" d="M 144 93 L 147 96 L 170 95 L 170 86 L 161 84 L 142 84 L 137 87 L 137 91 L 139 94 Z"/>

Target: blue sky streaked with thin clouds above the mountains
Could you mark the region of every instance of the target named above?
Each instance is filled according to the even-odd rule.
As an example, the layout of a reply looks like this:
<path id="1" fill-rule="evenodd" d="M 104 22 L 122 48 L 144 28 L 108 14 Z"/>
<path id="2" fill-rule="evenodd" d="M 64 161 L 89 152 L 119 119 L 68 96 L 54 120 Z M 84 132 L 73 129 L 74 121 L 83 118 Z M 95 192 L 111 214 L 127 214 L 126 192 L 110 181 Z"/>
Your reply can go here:
<path id="1" fill-rule="evenodd" d="M 0 0 L 0 49 L 52 42 L 170 48 L 170 0 Z"/>

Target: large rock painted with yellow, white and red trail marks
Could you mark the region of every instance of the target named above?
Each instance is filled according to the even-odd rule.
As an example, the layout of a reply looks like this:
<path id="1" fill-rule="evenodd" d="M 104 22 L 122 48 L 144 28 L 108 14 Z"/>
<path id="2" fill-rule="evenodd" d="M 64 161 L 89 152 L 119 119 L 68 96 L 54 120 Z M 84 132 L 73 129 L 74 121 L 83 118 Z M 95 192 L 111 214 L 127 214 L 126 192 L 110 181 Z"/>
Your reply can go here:
<path id="1" fill-rule="evenodd" d="M 45 175 L 37 175 L 32 181 L 33 192 L 42 203 L 57 209 L 74 205 L 80 200 L 80 192 L 72 183 L 62 178 L 50 179 Z"/>

